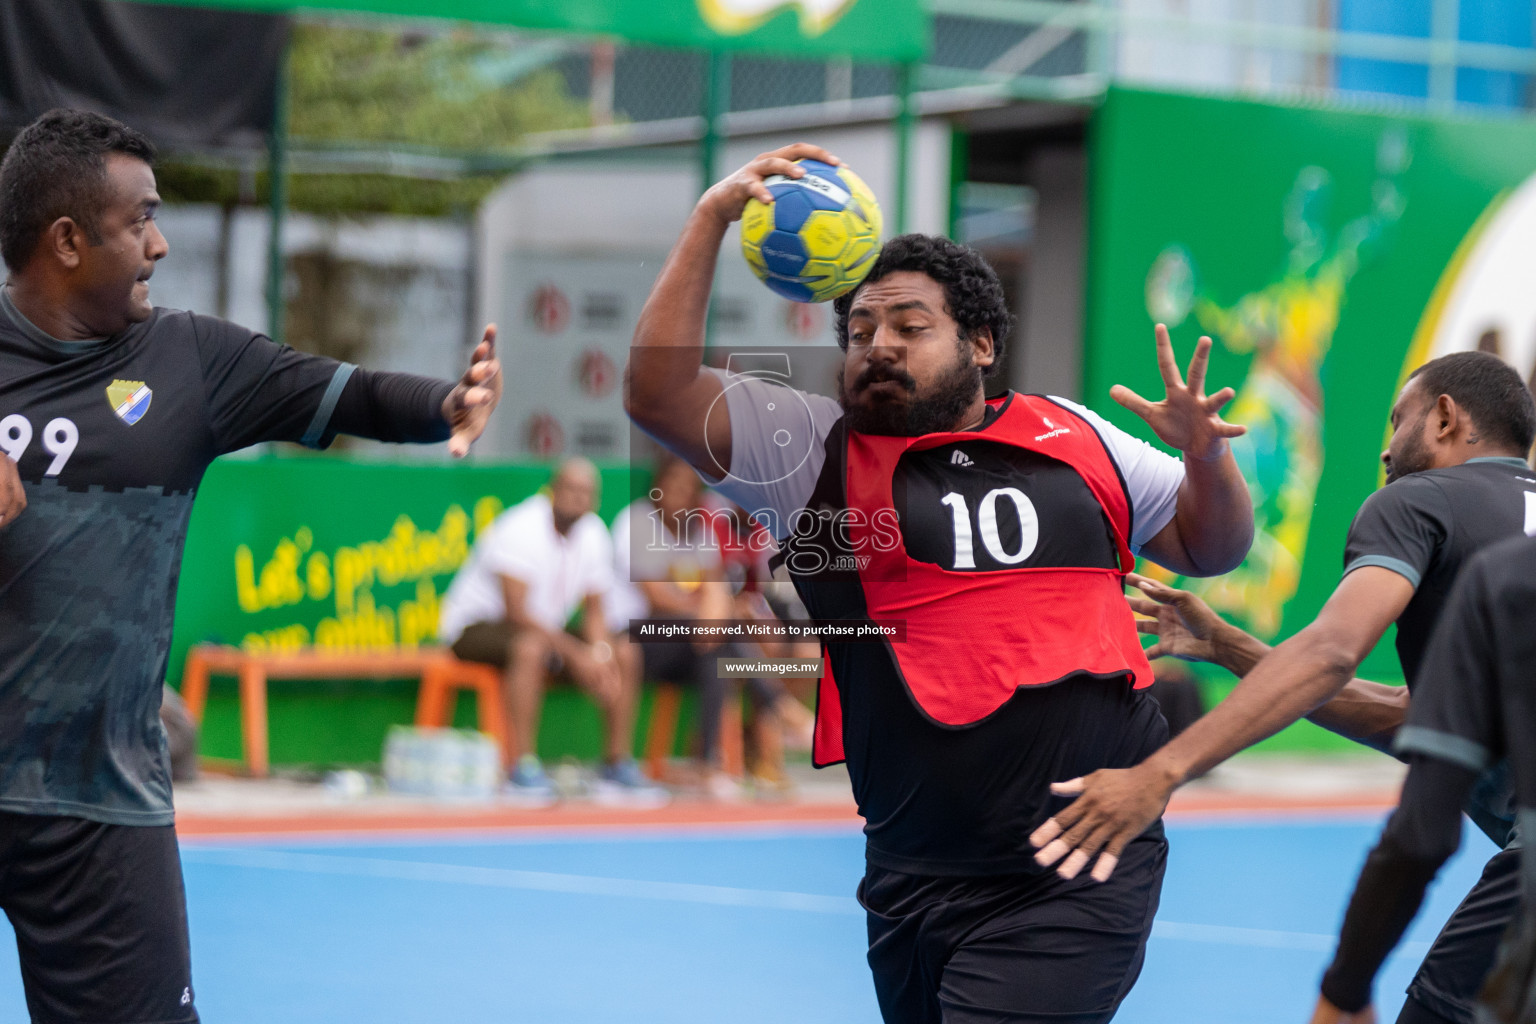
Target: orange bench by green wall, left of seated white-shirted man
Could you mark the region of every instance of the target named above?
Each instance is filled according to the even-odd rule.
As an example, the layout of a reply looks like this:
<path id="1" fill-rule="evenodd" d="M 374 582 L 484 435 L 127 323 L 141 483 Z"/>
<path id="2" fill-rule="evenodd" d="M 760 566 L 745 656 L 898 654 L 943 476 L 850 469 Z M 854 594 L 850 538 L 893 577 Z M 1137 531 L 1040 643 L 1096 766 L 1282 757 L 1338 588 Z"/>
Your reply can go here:
<path id="1" fill-rule="evenodd" d="M 501 746 L 502 765 L 516 760 L 511 729 L 501 697 L 501 672 L 490 665 L 461 662 L 442 648 L 386 651 L 378 654 L 333 654 L 292 651 L 287 654 L 247 654 L 240 648 L 203 643 L 187 652 L 181 676 L 181 697 L 192 718 L 203 720 L 207 683 L 212 676 L 233 676 L 240 682 L 240 745 L 246 769 L 264 778 L 267 757 L 267 680 L 269 679 L 421 679 L 416 695 L 416 725 L 444 726 L 453 712 L 453 695 L 472 689 L 478 697 L 479 728 Z"/>

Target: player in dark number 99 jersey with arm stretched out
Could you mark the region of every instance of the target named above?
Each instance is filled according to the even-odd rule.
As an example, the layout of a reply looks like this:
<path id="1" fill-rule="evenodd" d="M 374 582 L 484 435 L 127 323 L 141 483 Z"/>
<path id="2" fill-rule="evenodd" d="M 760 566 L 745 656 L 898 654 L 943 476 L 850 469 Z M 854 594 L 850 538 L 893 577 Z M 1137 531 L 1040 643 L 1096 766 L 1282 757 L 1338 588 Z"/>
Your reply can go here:
<path id="1" fill-rule="evenodd" d="M 155 309 L 154 150 L 54 111 L 0 163 L 0 909 L 34 1021 L 195 1021 L 160 697 L 192 499 L 214 457 L 338 433 L 449 441 L 501 393 Z"/>

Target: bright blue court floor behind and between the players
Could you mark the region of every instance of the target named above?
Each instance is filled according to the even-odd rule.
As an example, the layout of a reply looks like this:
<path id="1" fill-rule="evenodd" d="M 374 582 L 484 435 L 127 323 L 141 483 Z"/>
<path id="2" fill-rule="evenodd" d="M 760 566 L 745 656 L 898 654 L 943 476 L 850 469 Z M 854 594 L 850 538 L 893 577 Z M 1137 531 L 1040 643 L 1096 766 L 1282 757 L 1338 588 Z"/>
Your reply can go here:
<path id="1" fill-rule="evenodd" d="M 1146 969 L 1117 1021 L 1301 1024 L 1378 818 L 1169 826 Z M 210 1024 L 876 1024 L 846 827 L 407 841 L 187 841 Z M 1468 834 L 1378 984 L 1493 847 Z M 0 924 L 0 1024 L 26 1021 Z"/>

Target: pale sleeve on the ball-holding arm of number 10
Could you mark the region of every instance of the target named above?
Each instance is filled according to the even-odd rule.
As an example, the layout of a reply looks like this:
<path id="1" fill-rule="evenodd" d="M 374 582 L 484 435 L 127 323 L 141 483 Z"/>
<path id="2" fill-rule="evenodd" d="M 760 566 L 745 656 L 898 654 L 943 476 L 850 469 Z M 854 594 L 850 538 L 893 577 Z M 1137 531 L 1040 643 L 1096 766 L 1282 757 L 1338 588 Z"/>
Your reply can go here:
<path id="1" fill-rule="evenodd" d="M 826 459 L 826 434 L 843 415 L 825 395 L 753 376 L 711 370 L 725 388 L 731 419 L 731 471 L 703 482 L 757 519 L 774 539 L 790 533 L 790 517 L 811 499 Z"/>

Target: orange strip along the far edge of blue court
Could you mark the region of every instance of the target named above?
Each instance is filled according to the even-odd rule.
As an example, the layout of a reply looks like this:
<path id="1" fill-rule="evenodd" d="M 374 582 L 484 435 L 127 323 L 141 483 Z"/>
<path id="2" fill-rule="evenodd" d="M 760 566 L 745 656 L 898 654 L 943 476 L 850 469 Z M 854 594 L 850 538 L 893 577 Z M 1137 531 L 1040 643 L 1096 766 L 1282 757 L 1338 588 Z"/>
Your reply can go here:
<path id="1" fill-rule="evenodd" d="M 1174 823 L 1227 818 L 1355 817 L 1381 814 L 1396 804 L 1396 791 L 1370 791 L 1312 795 L 1255 795 L 1221 792 L 1181 792 L 1169 804 L 1166 818 Z M 183 840 L 281 838 L 281 837 L 432 837 L 432 835 L 561 835 L 624 832 L 691 832 L 808 829 L 825 831 L 860 826 L 859 814 L 848 803 L 722 804 L 674 803 L 656 809 L 556 804 L 554 808 L 422 808 L 366 811 L 353 808 L 319 809 L 296 814 L 177 814 L 177 834 Z"/>

